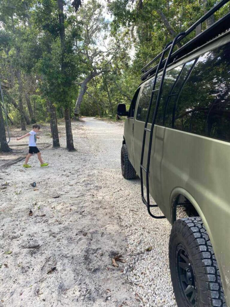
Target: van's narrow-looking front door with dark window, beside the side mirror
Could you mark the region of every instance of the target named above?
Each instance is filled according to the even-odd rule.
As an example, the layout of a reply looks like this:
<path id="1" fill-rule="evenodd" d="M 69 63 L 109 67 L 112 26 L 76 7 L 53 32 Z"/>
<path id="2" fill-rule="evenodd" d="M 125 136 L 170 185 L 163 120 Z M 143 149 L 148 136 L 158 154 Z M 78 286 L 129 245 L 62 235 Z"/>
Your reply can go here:
<path id="1" fill-rule="evenodd" d="M 133 151 L 132 151 L 132 141 L 133 141 L 133 124 L 134 124 L 134 113 L 136 102 L 138 100 L 140 92 L 140 87 L 137 89 L 136 93 L 133 96 L 130 108 L 128 110 L 128 117 L 125 120 L 125 129 L 124 129 L 124 138 L 125 144 L 128 150 L 128 159 L 131 162 L 132 166 L 134 167 L 134 159 L 133 159 Z"/>

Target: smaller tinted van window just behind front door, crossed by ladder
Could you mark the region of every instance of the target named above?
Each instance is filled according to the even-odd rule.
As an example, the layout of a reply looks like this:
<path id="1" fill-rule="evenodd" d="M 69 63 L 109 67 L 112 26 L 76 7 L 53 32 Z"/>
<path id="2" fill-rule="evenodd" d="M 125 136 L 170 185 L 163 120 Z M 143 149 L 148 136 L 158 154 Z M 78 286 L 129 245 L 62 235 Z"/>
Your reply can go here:
<path id="1" fill-rule="evenodd" d="M 154 83 L 154 78 L 151 79 L 150 81 L 146 82 L 144 84 L 143 89 L 142 89 L 141 94 L 140 94 L 139 104 L 138 104 L 138 107 L 137 107 L 136 119 L 140 120 L 142 122 L 145 122 L 146 117 L 147 117 L 148 105 L 150 103 L 153 83 Z M 156 81 L 155 88 L 159 88 L 159 83 L 160 83 L 160 80 L 158 78 L 158 80 Z M 152 122 L 152 117 L 153 117 L 155 104 L 156 104 L 157 93 L 158 92 L 156 91 L 156 92 L 154 92 L 154 95 L 153 95 L 152 105 L 151 105 L 151 110 L 150 110 L 148 122 Z"/>

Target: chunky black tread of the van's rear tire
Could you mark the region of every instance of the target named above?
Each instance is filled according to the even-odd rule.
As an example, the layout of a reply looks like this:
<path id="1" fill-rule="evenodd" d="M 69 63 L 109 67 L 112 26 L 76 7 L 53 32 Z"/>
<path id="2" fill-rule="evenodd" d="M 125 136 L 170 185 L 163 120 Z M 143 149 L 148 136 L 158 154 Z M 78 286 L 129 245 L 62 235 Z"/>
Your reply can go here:
<path id="1" fill-rule="evenodd" d="M 169 241 L 169 259 L 172 257 L 172 238 L 178 232 L 181 232 L 183 237 L 190 241 L 189 245 L 194 247 L 194 255 L 192 256 L 196 258 L 196 261 L 201 261 L 204 264 L 199 269 L 201 275 L 205 276 L 206 286 L 203 287 L 203 292 L 207 292 L 208 305 L 204 303 L 202 307 L 227 307 L 216 257 L 201 218 L 183 218 L 174 223 Z"/>

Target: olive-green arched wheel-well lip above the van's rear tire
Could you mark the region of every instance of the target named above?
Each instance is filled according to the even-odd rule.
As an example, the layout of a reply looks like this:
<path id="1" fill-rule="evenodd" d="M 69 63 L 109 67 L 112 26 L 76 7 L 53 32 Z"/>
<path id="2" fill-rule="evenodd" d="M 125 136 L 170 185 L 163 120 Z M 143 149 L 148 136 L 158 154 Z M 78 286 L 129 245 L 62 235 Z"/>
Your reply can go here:
<path id="1" fill-rule="evenodd" d="M 212 236 L 212 233 L 210 231 L 209 224 L 208 224 L 199 204 L 197 203 L 195 198 L 188 191 L 186 191 L 184 188 L 177 187 L 177 188 L 174 188 L 174 190 L 171 192 L 171 196 L 170 196 L 171 224 L 173 225 L 174 222 L 176 221 L 175 211 L 176 211 L 177 200 L 178 200 L 177 197 L 179 195 L 185 196 L 190 201 L 190 203 L 194 206 L 194 208 L 198 212 L 202 222 L 204 223 L 204 226 L 205 226 L 205 228 L 206 228 L 206 230 L 209 234 L 210 241 L 213 242 L 213 236 Z"/>

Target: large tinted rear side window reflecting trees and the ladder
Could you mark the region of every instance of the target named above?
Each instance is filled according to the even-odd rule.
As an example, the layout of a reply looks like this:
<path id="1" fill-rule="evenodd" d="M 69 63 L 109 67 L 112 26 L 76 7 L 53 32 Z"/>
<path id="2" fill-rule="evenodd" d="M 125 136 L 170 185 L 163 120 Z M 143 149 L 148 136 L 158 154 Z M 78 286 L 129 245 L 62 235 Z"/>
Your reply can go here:
<path id="1" fill-rule="evenodd" d="M 166 73 L 156 124 L 230 141 L 230 43 Z"/>

